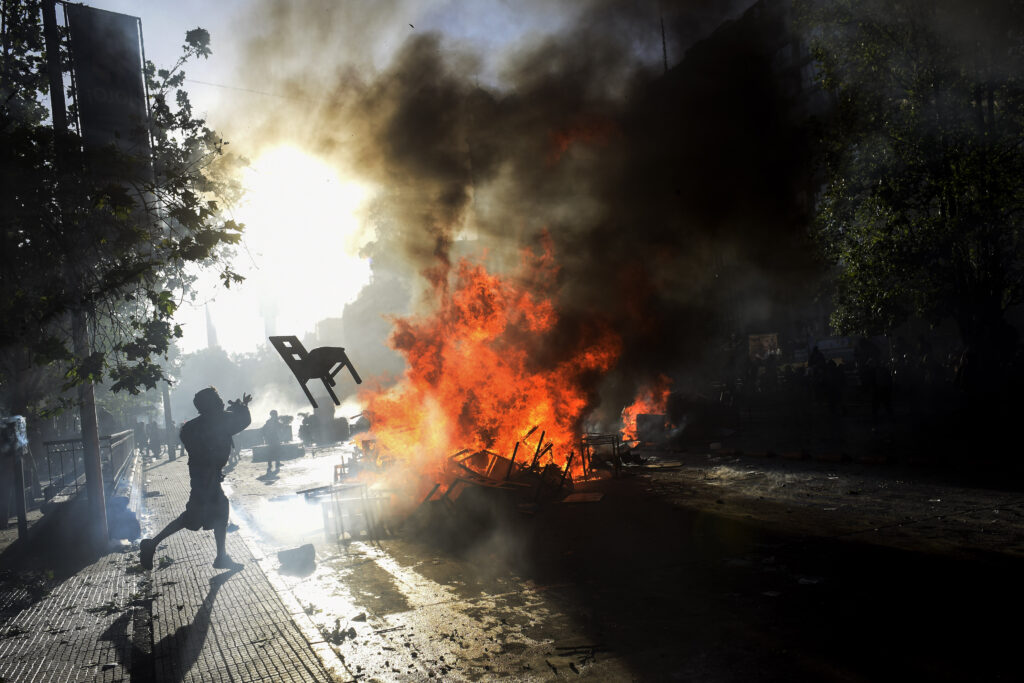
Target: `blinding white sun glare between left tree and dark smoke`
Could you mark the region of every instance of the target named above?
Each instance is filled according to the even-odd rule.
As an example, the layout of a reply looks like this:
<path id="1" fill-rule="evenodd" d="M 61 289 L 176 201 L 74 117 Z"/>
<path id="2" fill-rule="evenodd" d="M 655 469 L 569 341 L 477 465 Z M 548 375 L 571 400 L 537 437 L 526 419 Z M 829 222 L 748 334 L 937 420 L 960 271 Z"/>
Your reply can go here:
<path id="1" fill-rule="evenodd" d="M 236 268 L 246 282 L 219 293 L 210 306 L 228 351 L 255 349 L 266 332 L 301 337 L 317 322 L 341 316 L 370 279 L 369 261 L 357 256 L 368 185 L 290 146 L 257 158 L 243 185 L 234 217 L 246 230 Z M 203 342 L 205 336 L 190 345 Z"/>

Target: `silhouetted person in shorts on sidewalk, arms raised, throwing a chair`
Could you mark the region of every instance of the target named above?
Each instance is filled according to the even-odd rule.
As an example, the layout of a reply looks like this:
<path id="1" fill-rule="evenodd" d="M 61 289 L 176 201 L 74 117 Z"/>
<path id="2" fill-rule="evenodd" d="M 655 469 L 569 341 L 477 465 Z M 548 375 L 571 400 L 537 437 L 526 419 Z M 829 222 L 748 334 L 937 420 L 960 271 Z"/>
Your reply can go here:
<path id="1" fill-rule="evenodd" d="M 218 569 L 242 567 L 224 550 L 228 507 L 220 482 L 224 478 L 221 469 L 227 464 L 231 451 L 231 436 L 252 421 L 248 408 L 250 400 L 252 396 L 245 394 L 241 400 L 229 401 L 225 411 L 224 401 L 213 387 L 203 389 L 193 398 L 199 417 L 181 426 L 180 436 L 181 444 L 188 454 L 188 478 L 191 483 L 188 503 L 185 504 L 185 511 L 156 538 L 143 539 L 139 544 L 140 561 L 144 568 L 153 568 L 157 546 L 183 528 L 190 531 L 213 529 L 217 542 L 217 557 L 213 566 Z"/>

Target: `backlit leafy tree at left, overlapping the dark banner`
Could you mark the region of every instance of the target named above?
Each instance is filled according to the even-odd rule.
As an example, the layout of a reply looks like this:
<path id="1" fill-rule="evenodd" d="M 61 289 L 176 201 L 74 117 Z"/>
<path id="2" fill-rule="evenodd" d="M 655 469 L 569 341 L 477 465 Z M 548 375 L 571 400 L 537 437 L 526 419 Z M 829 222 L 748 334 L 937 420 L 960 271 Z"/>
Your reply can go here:
<path id="1" fill-rule="evenodd" d="M 163 378 L 160 357 L 181 335 L 173 316 L 197 267 L 220 268 L 225 286 L 242 280 L 226 258 L 242 226 L 221 212 L 239 191 L 225 142 L 181 87 L 182 67 L 209 56 L 210 37 L 187 32 L 170 69 L 146 63 L 151 116 L 140 125 L 152 157 L 132 158 L 48 123 L 40 7 L 0 7 L 0 351 L 27 357 L 25 372 L 55 364 L 68 387 L 105 380 L 135 393 Z M 92 319 L 85 357 L 71 349 L 76 309 Z M 28 408 L 25 397 L 17 402 L 10 408 Z"/>

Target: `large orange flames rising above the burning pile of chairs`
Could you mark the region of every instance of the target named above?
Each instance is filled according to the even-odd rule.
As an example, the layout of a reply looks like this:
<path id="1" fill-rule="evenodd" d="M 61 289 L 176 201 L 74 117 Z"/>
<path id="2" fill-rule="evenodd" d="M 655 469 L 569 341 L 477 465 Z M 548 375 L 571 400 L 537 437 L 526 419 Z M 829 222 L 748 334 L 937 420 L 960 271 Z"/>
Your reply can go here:
<path id="1" fill-rule="evenodd" d="M 532 458 L 543 430 L 552 449 L 542 462 L 565 466 L 579 451 L 595 380 L 614 366 L 622 341 L 599 323 L 566 339 L 569 326 L 557 325 L 553 303 L 557 272 L 550 243 L 540 255 L 524 252 L 516 276 L 463 260 L 451 286 L 435 288 L 431 314 L 395 321 L 391 344 L 407 371 L 394 386 L 360 395 L 381 453 L 442 481 L 453 454 L 510 457 L 536 427 L 517 462 Z"/>

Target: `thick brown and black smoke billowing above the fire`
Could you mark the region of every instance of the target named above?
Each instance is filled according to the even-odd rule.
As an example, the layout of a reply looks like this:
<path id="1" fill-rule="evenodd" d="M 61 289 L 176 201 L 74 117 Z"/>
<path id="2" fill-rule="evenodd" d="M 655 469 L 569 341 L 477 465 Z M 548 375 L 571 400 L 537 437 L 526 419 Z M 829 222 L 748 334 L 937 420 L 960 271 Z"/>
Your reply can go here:
<path id="1" fill-rule="evenodd" d="M 382 344 L 355 330 L 407 312 L 403 296 L 429 305 L 455 259 L 508 271 L 550 236 L 559 334 L 597 319 L 623 336 L 623 372 L 604 387 L 617 411 L 638 383 L 699 360 L 713 334 L 765 317 L 814 267 L 790 199 L 803 145 L 764 46 L 734 36 L 683 60 L 750 2 L 467 4 L 474 26 L 481 7 L 515 18 L 488 35 L 454 4 L 254 10 L 242 85 L 290 98 L 238 112 L 232 140 L 296 144 L 376 190 L 365 253 L 391 304 L 357 306 L 367 325 L 346 312 L 346 344 Z M 761 293 L 744 307 L 728 300 L 739 278 Z M 364 298 L 387 298 L 374 290 Z M 567 346 L 559 334 L 539 362 Z"/>

